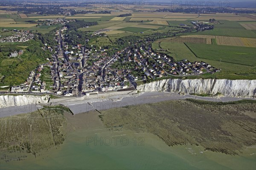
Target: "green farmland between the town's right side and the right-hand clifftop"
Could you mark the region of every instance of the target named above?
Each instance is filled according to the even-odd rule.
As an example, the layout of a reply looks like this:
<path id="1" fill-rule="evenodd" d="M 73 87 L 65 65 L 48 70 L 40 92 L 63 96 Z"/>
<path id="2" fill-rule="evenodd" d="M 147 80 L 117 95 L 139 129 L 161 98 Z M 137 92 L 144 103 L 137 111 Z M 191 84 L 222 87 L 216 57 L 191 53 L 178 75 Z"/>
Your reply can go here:
<path id="1" fill-rule="evenodd" d="M 185 45 L 184 42 L 188 41 L 185 38 L 186 37 L 183 37 L 183 42 L 173 42 L 173 40 L 168 39 L 158 40 L 152 44 L 152 48 L 166 49 L 165 53 L 172 56 L 176 61 L 182 59 L 188 59 L 190 62 L 204 61 L 221 69 L 221 72 L 218 74 L 205 74 L 202 78 L 256 78 L 255 48 L 237 48 L 236 46 L 211 45 L 205 43 L 186 43 L 186 45 L 194 50 L 192 52 L 188 46 Z M 190 39 L 189 41 L 192 42 Z M 201 58 L 198 58 L 195 54 Z"/>

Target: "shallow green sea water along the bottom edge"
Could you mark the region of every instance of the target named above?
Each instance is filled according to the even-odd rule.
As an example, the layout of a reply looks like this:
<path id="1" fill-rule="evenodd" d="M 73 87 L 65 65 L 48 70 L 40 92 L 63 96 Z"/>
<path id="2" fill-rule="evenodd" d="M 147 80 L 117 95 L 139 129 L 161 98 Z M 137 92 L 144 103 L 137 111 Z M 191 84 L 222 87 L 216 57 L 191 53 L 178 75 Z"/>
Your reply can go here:
<path id="1" fill-rule="evenodd" d="M 79 129 L 64 144 L 23 161 L 1 161 L 0 169 L 255 169 L 255 155 L 202 152 L 201 147 L 169 147 L 157 136 L 129 130 Z M 200 153 L 201 152 L 201 153 Z M 253 151 L 252 151 L 253 152 Z"/>

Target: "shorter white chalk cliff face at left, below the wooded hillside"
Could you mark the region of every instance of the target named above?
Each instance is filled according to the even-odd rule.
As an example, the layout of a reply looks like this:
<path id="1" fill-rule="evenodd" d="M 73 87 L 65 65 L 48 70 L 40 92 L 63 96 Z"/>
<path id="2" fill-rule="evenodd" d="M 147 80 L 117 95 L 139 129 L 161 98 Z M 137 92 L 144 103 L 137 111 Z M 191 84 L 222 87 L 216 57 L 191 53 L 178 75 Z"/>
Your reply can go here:
<path id="1" fill-rule="evenodd" d="M 31 96 L 31 95 L 20 95 L 20 96 L 0 96 L 0 108 L 5 108 L 9 106 L 20 106 L 28 104 L 46 104 L 50 101 L 50 96 Z"/>

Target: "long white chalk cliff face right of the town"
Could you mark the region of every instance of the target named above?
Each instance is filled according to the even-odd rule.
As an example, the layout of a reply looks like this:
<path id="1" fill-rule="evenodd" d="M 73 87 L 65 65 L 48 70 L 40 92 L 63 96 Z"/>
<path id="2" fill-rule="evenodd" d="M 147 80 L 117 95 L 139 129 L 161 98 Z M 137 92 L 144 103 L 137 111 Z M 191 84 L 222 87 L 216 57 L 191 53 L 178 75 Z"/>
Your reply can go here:
<path id="1" fill-rule="evenodd" d="M 169 91 L 180 94 L 217 93 L 231 97 L 256 97 L 256 80 L 228 79 L 165 79 L 137 86 L 137 90 Z"/>

